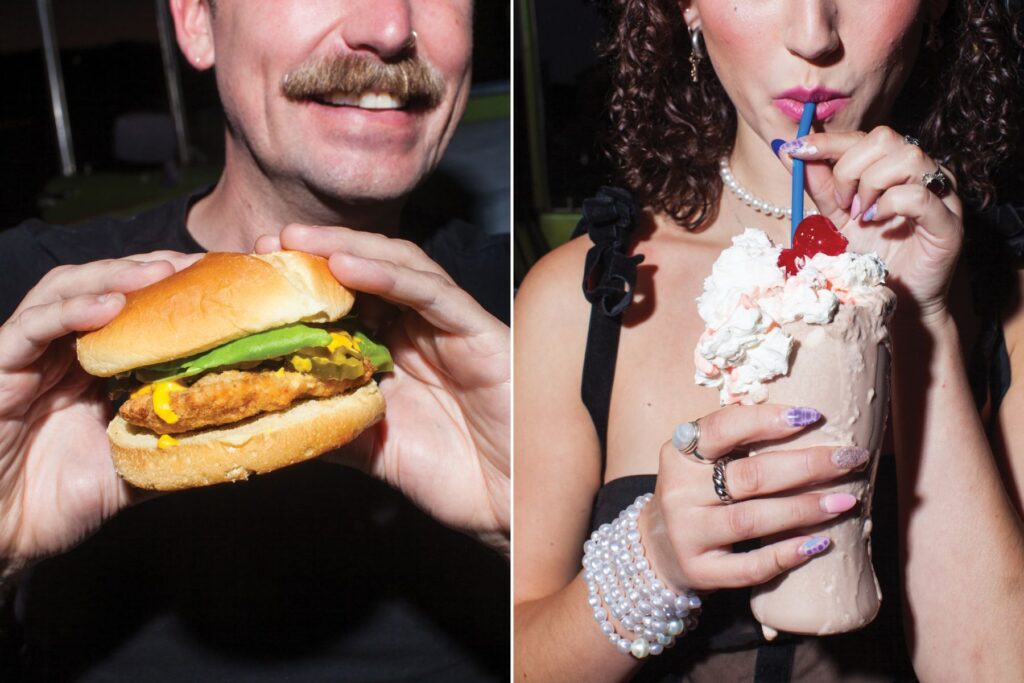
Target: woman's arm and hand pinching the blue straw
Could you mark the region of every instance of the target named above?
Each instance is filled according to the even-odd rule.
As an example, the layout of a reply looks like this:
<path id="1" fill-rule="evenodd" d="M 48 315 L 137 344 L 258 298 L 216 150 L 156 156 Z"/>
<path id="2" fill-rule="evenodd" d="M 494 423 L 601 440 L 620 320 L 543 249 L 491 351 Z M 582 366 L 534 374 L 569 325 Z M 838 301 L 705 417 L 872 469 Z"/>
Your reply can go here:
<path id="1" fill-rule="evenodd" d="M 925 187 L 937 162 L 891 128 L 802 140 L 790 154 L 807 162 L 818 209 L 851 249 L 886 261 L 899 295 L 893 414 L 905 628 L 918 675 L 1024 680 L 1020 511 L 974 405 L 947 303 L 963 245 L 959 198 Z M 1007 397 L 1007 415 L 1021 407 L 1019 392 Z"/>

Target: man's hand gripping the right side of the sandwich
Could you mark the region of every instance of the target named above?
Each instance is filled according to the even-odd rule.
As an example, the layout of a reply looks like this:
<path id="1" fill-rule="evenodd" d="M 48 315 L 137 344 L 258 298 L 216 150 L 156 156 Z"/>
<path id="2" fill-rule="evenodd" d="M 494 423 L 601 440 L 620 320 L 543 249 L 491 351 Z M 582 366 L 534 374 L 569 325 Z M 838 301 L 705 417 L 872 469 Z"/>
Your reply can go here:
<path id="1" fill-rule="evenodd" d="M 509 329 L 412 243 L 306 225 L 256 243 L 282 248 L 328 257 L 338 282 L 399 311 L 382 331 L 395 364 L 380 382 L 387 416 L 335 459 L 508 553 Z"/>

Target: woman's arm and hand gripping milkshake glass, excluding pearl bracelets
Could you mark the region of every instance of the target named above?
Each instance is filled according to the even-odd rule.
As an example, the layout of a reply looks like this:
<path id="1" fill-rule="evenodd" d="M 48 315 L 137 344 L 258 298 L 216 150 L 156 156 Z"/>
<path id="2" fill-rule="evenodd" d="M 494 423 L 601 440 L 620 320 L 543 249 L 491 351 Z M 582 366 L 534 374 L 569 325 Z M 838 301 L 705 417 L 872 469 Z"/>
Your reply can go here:
<path id="1" fill-rule="evenodd" d="M 517 300 L 514 557 L 519 680 L 620 680 L 637 666 L 601 633 L 580 575 L 582 545 L 600 485 L 598 438 L 580 398 L 589 317 L 578 285 L 583 253 L 577 243 L 546 259 Z M 715 460 L 740 444 L 793 436 L 816 420 L 811 415 L 817 414 L 768 404 L 715 411 L 699 419 L 700 453 Z M 670 426 L 663 427 L 671 432 Z M 746 553 L 731 549 L 740 541 L 794 533 L 792 529 L 848 511 L 855 503 L 851 496 L 802 493 L 849 473 L 868 454 L 860 453 L 859 460 L 851 460 L 850 453 L 840 455 L 814 446 L 734 460 L 727 465 L 734 503 L 724 505 L 711 485 L 708 464 L 669 442 L 662 444 L 654 497 L 639 519 L 654 574 L 680 594 L 754 586 L 813 561 L 827 543 L 806 536 L 791 536 Z M 615 610 L 610 611 L 614 616 Z"/>

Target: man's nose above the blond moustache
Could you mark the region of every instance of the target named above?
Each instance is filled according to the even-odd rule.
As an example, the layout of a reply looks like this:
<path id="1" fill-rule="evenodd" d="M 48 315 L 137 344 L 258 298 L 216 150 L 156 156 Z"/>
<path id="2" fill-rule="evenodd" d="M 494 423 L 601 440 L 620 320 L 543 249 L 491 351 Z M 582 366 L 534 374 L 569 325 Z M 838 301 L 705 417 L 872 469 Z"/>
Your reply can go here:
<path id="1" fill-rule="evenodd" d="M 355 0 L 346 13 L 342 38 L 352 50 L 394 59 L 416 43 L 410 0 Z"/>

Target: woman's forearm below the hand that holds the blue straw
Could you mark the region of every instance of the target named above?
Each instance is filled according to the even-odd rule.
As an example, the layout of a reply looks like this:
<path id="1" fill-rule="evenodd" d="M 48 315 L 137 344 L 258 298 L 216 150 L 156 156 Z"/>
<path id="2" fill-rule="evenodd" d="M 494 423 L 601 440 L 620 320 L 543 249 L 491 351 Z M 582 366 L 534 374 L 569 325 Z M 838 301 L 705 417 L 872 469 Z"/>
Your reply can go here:
<path id="1" fill-rule="evenodd" d="M 894 329 L 893 410 L 906 633 L 922 680 L 1024 680 L 1024 535 L 948 315 Z M 1024 358 L 1015 349 L 1015 377 Z M 1001 408 L 1020 471 L 1017 381 Z M 1008 419 L 1009 418 L 1009 419 Z"/>

